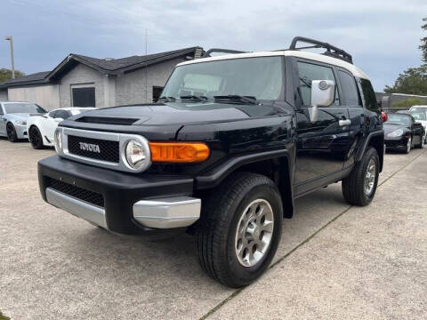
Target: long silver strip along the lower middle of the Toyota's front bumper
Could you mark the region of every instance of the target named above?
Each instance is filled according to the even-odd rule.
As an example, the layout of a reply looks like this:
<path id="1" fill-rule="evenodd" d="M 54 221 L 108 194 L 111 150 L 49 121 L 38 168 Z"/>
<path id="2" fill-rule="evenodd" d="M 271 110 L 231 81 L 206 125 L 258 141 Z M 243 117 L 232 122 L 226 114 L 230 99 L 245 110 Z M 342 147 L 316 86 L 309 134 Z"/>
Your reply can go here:
<path id="1" fill-rule="evenodd" d="M 46 188 L 46 199 L 49 204 L 56 206 L 66 212 L 74 214 L 97 226 L 107 229 L 105 220 L 105 210 L 85 201 L 79 200 L 73 196 L 67 196 L 52 188 Z"/>

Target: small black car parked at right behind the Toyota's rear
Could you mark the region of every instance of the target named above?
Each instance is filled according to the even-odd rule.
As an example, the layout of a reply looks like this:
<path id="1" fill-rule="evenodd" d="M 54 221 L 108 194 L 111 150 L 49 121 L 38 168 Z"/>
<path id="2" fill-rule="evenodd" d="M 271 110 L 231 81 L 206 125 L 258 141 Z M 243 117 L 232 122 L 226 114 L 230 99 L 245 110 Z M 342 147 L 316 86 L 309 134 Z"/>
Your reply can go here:
<path id="1" fill-rule="evenodd" d="M 411 115 L 394 113 L 388 115 L 384 126 L 384 142 L 387 149 L 409 153 L 414 146 L 424 147 L 424 128 Z"/>

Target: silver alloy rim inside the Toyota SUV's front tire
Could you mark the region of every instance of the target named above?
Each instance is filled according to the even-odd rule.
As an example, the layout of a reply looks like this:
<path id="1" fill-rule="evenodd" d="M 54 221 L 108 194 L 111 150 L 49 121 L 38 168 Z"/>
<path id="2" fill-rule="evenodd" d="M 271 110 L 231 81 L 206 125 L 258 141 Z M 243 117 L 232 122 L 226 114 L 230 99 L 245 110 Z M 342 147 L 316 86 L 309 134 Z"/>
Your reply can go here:
<path id="1" fill-rule="evenodd" d="M 271 205 L 256 199 L 246 206 L 238 220 L 235 252 L 244 267 L 256 265 L 269 250 L 273 237 L 274 215 Z"/>

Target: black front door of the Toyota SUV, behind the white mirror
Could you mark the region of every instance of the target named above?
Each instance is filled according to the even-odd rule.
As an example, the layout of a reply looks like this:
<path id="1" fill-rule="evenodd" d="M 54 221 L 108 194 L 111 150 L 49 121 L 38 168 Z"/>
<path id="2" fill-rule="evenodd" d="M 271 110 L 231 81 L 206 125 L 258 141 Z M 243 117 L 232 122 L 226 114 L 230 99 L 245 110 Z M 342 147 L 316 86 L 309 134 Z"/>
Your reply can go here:
<path id="1" fill-rule="evenodd" d="M 296 63 L 299 76 L 298 92 L 301 109 L 296 112 L 297 147 L 294 173 L 295 196 L 325 185 L 342 174 L 349 144 L 349 113 L 342 106 L 332 66 L 300 60 Z M 333 80 L 334 103 L 318 108 L 318 119 L 310 121 L 311 82 Z"/>

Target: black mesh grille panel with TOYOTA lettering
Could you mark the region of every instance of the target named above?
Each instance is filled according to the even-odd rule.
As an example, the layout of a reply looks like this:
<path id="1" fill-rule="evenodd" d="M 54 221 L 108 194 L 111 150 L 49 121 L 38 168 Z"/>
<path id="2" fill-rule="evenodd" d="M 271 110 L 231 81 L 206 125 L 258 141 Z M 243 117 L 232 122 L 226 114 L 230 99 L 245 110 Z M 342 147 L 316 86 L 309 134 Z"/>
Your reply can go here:
<path id="1" fill-rule="evenodd" d="M 101 161 L 118 163 L 118 141 L 99 140 L 68 135 L 68 152 Z"/>

